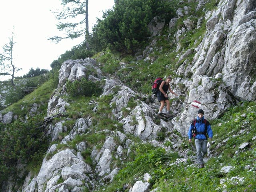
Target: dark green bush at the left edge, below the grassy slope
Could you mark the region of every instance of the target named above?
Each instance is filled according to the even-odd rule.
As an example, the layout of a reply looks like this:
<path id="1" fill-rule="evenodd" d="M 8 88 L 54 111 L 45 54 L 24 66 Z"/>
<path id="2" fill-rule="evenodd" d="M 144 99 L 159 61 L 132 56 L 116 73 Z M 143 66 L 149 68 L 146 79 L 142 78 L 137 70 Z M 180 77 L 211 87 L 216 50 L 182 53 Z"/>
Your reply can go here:
<path id="1" fill-rule="evenodd" d="M 48 143 L 39 123 L 44 114 L 28 119 L 28 122 L 15 121 L 11 124 L 0 123 L 0 181 L 17 172 L 17 162 L 42 162 Z"/>

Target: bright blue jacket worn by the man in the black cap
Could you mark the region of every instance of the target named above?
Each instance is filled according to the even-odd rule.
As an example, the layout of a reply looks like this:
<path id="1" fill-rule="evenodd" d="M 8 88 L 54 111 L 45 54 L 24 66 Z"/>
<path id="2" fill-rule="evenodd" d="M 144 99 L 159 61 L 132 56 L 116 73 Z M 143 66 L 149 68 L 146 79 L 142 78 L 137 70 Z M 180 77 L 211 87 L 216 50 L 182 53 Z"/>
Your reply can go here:
<path id="1" fill-rule="evenodd" d="M 193 126 L 194 126 L 194 123 L 192 122 L 190 124 L 189 130 L 188 130 L 188 138 L 189 139 L 191 139 L 193 136 L 193 134 L 192 134 Z M 204 130 L 205 130 L 204 116 L 201 119 L 197 116 L 196 130 L 197 130 L 197 132 L 204 132 Z M 207 126 L 207 134 L 208 134 L 209 138 L 212 138 L 213 133 L 212 133 L 212 128 L 211 128 L 210 124 L 208 124 L 208 126 Z M 206 139 L 206 137 L 204 134 L 197 134 L 195 139 L 204 140 L 204 139 Z"/>

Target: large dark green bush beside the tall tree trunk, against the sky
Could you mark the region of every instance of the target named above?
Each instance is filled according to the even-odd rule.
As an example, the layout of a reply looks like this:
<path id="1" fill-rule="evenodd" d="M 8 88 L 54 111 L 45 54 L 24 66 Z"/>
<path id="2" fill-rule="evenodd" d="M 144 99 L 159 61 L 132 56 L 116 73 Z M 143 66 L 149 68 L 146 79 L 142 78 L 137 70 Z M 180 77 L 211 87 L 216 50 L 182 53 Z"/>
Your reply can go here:
<path id="1" fill-rule="evenodd" d="M 119 0 L 114 10 L 104 13 L 103 19 L 98 20 L 93 28 L 91 41 L 97 46 L 94 49 L 110 48 L 134 55 L 139 47 L 148 42 L 151 35 L 149 22 L 155 16 L 168 22 L 175 15 L 175 5 L 176 1 Z"/>

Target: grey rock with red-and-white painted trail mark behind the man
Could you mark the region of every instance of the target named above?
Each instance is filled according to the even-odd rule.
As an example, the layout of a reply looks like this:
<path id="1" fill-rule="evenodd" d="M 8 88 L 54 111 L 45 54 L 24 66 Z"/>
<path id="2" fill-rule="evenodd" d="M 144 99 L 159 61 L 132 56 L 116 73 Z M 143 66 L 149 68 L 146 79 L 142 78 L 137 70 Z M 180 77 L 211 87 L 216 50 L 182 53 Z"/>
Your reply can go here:
<path id="1" fill-rule="evenodd" d="M 186 97 L 185 109 L 172 120 L 174 128 L 184 136 L 186 136 L 192 120 L 197 116 L 199 108 L 204 110 L 206 119 L 212 120 L 218 118 L 234 104 L 230 91 L 223 84 L 219 84 L 216 78 L 194 76 L 193 81 L 189 84 L 190 92 Z"/>

